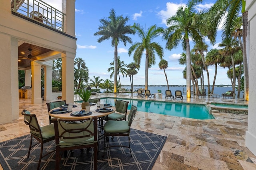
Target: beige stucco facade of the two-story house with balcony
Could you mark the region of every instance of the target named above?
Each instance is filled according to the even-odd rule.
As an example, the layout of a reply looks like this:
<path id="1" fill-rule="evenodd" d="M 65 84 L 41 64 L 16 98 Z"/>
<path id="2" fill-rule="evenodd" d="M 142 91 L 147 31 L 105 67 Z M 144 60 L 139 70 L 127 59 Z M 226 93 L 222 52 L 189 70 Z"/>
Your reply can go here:
<path id="1" fill-rule="evenodd" d="M 64 30 L 66 31 L 66 34 L 74 37 L 75 0 L 68 0 L 67 2 L 66 0 L 62 1 L 62 4 L 67 4 L 65 23 L 68 27 L 65 27 Z M 72 102 L 74 100 L 74 88 L 72 87 L 74 87 L 76 39 L 13 15 L 10 9 L 10 0 L 1 1 L 0 18 L 0 124 L 9 123 L 12 122 L 12 120 L 18 119 L 18 45 L 21 45 L 24 42 L 53 50 L 54 52 L 52 53 L 54 55 L 48 54 L 48 58 L 44 58 L 46 62 L 61 56 L 68 57 L 68 61 L 73 63 L 66 65 L 67 68 L 64 69 L 67 70 L 69 74 L 62 74 L 62 78 L 64 77 L 65 80 L 62 84 L 64 84 L 65 87 L 68 87 L 64 88 L 66 90 L 64 94 L 66 95 L 62 99 Z M 59 55 L 56 53 L 59 53 Z M 68 56 L 66 56 L 66 54 L 68 54 Z M 67 60 L 65 59 L 64 61 Z M 37 67 L 40 67 L 41 64 L 44 65 L 43 63 L 34 63 L 34 66 L 38 65 Z M 39 74 L 38 68 L 34 68 L 34 71 L 36 74 Z M 70 80 L 71 77 L 72 80 Z M 40 78 L 35 78 L 33 80 L 32 75 L 32 83 L 36 86 L 34 93 L 32 94 L 33 103 L 42 102 L 40 98 L 41 84 L 39 81 Z M 49 90 L 47 94 L 49 94 Z M 73 95 L 71 96 L 71 94 Z M 48 98 L 50 99 L 50 97 Z"/>

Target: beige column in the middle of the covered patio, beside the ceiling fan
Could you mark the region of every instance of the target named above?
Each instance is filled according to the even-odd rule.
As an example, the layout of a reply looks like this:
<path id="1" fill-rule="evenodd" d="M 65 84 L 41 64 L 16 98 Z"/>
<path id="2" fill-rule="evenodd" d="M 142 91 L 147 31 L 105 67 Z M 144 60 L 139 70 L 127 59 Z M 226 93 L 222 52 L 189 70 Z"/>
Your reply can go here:
<path id="1" fill-rule="evenodd" d="M 31 61 L 32 100 L 33 104 L 42 103 L 41 98 L 41 64 Z"/>

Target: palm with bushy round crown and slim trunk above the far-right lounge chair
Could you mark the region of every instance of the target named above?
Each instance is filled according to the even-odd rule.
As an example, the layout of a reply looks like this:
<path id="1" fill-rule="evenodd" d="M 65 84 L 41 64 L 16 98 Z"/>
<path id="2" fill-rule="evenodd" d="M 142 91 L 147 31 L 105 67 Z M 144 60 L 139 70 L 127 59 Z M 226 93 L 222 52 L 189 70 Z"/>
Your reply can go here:
<path id="1" fill-rule="evenodd" d="M 234 62 L 234 53 L 236 53 L 239 49 L 240 46 L 238 45 L 238 41 L 236 39 L 224 39 L 219 45 L 219 47 L 223 47 L 220 50 L 220 54 L 224 55 L 224 56 L 230 56 L 231 57 L 231 61 L 232 61 L 232 68 L 233 68 L 233 86 L 232 86 L 232 91 L 235 91 L 236 89 L 236 68 L 235 68 L 235 62 Z M 235 95 L 235 93 L 234 93 Z"/>

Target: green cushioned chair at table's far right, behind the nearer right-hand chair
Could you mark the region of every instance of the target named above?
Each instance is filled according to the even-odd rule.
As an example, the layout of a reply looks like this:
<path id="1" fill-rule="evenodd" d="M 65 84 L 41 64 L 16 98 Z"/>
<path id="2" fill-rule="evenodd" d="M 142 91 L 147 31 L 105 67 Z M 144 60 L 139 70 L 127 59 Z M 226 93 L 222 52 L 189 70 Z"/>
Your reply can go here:
<path id="1" fill-rule="evenodd" d="M 116 100 L 116 112 L 111 113 L 106 117 L 104 120 L 126 120 L 126 115 L 127 115 L 127 108 L 128 108 L 128 103 L 127 101 L 124 100 Z"/>

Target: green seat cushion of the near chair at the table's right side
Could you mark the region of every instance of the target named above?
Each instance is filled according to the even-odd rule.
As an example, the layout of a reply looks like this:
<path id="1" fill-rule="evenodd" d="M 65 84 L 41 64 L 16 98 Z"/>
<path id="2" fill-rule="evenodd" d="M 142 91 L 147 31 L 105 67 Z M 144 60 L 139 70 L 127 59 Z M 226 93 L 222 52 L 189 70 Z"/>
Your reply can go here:
<path id="1" fill-rule="evenodd" d="M 109 120 L 104 124 L 105 133 L 126 133 L 129 132 L 130 127 L 128 121 Z"/>

